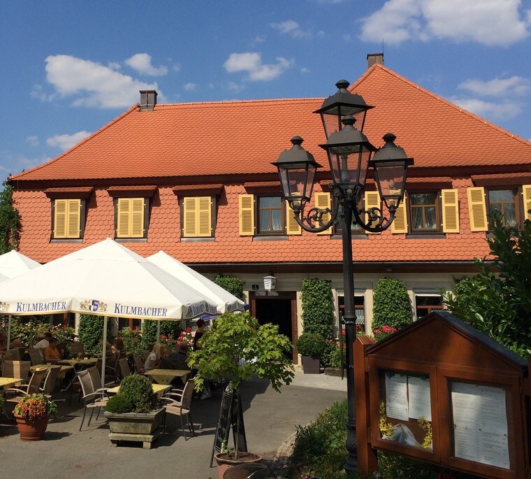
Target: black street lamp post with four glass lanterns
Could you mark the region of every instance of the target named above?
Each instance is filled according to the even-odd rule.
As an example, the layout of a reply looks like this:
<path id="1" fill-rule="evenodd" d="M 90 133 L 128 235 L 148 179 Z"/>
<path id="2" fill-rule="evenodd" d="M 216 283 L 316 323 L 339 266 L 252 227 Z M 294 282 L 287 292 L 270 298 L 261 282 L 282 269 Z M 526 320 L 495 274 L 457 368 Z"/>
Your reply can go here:
<path id="1" fill-rule="evenodd" d="M 365 231 L 380 232 L 391 226 L 395 212 L 404 198 L 407 166 L 413 164 L 405 151 L 395 145 L 395 136 L 386 134 L 382 148 L 374 148 L 368 138 L 354 124 L 356 120 L 365 124 L 368 106 L 363 98 L 351 94 L 349 83 L 340 80 L 336 83 L 338 91 L 329 96 L 319 113 L 323 121 L 328 141 L 319 145 L 326 150 L 330 172 L 332 173 L 333 205 L 331 208 L 309 208 L 312 198 L 315 174 L 319 165 L 313 155 L 302 146 L 303 138 L 294 136 L 293 146 L 282 152 L 277 162 L 280 183 L 284 198 L 295 213 L 295 219 L 305 231 L 318 233 L 340 223 L 343 247 L 343 283 L 347 397 L 349 416 L 347 421 L 347 450 L 349 458 L 344 469 L 357 469 L 356 452 L 356 413 L 354 398 L 354 340 L 356 339 L 356 314 L 354 310 L 354 273 L 352 269 L 351 225 L 358 224 Z M 372 156 L 374 153 L 374 156 Z M 372 157 L 372 159 L 371 159 Z M 359 199 L 365 192 L 365 181 L 370 166 L 374 169 L 374 180 L 381 199 L 380 208 L 359 208 Z M 340 212 L 338 218 L 338 212 Z M 330 216 L 328 221 L 325 221 Z M 363 220 L 365 217 L 365 220 Z M 341 329 L 341 328 L 340 328 Z"/>

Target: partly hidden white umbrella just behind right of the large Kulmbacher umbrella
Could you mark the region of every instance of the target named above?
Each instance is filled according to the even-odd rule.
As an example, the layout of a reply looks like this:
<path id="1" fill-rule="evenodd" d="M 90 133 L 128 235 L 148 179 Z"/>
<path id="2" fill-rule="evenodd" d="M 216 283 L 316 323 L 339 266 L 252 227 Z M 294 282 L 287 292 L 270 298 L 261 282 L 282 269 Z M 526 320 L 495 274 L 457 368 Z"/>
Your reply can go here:
<path id="1" fill-rule="evenodd" d="M 159 251 L 154 255 L 148 256 L 146 259 L 149 259 L 150 262 L 157 264 L 157 266 L 168 271 L 175 278 L 179 278 L 187 283 L 187 285 L 197 289 L 201 294 L 211 299 L 212 302 L 216 303 L 217 313 L 222 314 L 225 312 L 244 310 L 245 303 L 241 299 L 238 299 L 226 291 L 226 289 L 205 278 L 201 273 L 182 264 L 178 259 L 168 255 L 166 252 Z"/>

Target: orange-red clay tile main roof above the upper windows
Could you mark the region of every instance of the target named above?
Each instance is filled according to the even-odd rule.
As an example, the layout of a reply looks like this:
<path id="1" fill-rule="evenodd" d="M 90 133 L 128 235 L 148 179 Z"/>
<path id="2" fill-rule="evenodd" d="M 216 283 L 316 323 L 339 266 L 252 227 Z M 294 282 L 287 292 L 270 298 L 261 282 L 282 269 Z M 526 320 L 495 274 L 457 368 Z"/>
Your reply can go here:
<path id="1" fill-rule="evenodd" d="M 365 134 L 377 146 L 388 131 L 423 166 L 530 164 L 531 143 L 374 64 L 354 83 L 369 111 Z M 17 180 L 93 180 L 275 173 L 270 162 L 294 134 L 328 164 L 319 115 L 322 99 L 138 105 L 63 155 Z M 325 166 L 326 168 L 326 166 Z"/>

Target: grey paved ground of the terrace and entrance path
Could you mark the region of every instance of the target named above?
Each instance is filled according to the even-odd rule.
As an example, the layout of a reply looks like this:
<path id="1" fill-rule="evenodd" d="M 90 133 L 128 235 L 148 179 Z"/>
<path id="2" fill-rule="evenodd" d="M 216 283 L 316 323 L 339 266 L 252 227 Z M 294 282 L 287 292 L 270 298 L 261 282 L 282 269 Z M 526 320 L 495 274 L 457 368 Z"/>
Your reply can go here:
<path id="1" fill-rule="evenodd" d="M 272 459 L 293 436 L 298 425 L 311 422 L 324 408 L 347 397 L 346 380 L 296 373 L 293 383 L 275 392 L 266 381 L 242 387 L 245 430 L 249 450 Z M 48 425 L 44 441 L 20 441 L 17 427 L 0 417 L 0 477 L 54 479 L 92 478 L 216 478 L 210 457 L 221 391 L 192 403 L 197 436 L 184 441 L 179 429 L 159 438 L 152 450 L 137 445 L 111 448 L 108 427 L 102 420 L 80 426 L 82 408 L 59 405 L 59 415 Z M 170 418 L 169 426 L 176 425 Z"/>

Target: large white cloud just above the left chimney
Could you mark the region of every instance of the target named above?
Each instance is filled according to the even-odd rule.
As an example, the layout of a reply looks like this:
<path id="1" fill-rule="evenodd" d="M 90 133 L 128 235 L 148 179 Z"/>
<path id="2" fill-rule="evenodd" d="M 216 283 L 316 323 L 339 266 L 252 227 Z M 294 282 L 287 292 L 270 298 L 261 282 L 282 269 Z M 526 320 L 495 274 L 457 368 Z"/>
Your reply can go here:
<path id="1" fill-rule="evenodd" d="M 157 83 L 144 83 L 108 66 L 68 55 L 46 58 L 46 79 L 61 96 L 75 96 L 73 106 L 92 108 L 124 108 L 138 102 L 138 90 L 158 90 Z M 44 96 L 41 90 L 32 96 Z M 159 99 L 163 101 L 161 92 Z"/>

